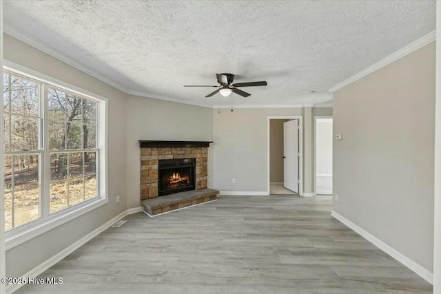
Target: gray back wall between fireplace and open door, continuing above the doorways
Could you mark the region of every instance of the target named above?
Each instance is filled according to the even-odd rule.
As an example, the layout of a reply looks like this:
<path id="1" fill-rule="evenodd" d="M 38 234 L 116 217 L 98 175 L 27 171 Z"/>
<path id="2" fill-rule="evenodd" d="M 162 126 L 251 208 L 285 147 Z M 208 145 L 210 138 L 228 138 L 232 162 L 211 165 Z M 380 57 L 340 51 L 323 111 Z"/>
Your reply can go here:
<path id="1" fill-rule="evenodd" d="M 332 108 L 313 107 L 311 114 L 310 120 L 316 115 L 329 116 Z M 238 108 L 234 112 L 220 109 L 220 113 L 213 109 L 214 189 L 267 191 L 268 116 L 302 116 L 302 108 Z M 305 146 L 311 153 L 313 144 Z M 313 173 L 311 168 L 309 180 L 313 180 Z M 236 178 L 236 184 L 232 183 L 232 178 Z"/>

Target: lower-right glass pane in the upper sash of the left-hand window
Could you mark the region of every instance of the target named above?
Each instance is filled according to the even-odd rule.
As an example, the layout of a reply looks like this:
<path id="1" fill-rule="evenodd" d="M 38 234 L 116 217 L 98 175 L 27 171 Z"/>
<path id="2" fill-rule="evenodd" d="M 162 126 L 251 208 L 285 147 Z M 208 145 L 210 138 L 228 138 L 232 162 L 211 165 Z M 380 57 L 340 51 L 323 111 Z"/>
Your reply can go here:
<path id="1" fill-rule="evenodd" d="M 12 115 L 11 149 L 37 150 L 39 138 L 39 118 Z"/>

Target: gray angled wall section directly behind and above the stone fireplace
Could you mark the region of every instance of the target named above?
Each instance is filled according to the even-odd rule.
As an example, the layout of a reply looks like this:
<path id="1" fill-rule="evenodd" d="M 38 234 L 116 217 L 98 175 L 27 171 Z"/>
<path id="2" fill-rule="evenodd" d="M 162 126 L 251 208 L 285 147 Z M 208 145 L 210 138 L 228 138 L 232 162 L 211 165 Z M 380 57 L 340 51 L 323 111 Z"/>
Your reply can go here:
<path id="1" fill-rule="evenodd" d="M 141 153 L 139 140 L 213 139 L 211 108 L 129 95 L 127 100 L 127 208 L 139 207 Z M 208 154 L 208 185 L 212 185 L 212 147 Z"/>

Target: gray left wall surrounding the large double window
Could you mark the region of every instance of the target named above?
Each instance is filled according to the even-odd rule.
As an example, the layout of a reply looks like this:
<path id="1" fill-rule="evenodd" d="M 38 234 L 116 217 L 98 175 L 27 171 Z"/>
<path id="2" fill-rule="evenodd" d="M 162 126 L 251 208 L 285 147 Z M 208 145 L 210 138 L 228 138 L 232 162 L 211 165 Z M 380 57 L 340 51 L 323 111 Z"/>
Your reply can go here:
<path id="1" fill-rule="evenodd" d="M 126 94 L 35 48 L 4 35 L 4 58 L 109 99 L 108 193 L 109 203 L 52 229 L 6 252 L 6 274 L 20 277 L 127 209 L 125 193 Z M 115 203 L 116 195 L 121 202 Z"/>

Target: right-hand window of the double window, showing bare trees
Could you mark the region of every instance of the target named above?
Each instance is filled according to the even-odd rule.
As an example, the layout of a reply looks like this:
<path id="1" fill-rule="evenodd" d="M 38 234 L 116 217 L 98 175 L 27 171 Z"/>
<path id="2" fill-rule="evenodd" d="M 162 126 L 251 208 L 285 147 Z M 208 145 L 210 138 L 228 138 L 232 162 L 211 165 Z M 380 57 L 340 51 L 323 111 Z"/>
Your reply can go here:
<path id="1" fill-rule="evenodd" d="M 97 196 L 96 102 L 54 88 L 48 98 L 49 148 L 57 151 L 50 156 L 54 213 Z"/>

